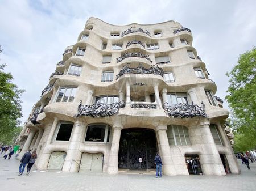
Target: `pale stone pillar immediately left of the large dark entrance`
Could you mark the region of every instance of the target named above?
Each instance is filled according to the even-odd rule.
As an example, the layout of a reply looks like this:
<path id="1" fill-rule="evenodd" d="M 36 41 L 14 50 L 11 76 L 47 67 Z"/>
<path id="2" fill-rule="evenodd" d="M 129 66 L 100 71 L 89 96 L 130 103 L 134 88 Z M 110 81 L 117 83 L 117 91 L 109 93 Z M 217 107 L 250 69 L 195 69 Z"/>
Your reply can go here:
<path id="1" fill-rule="evenodd" d="M 119 142 L 120 142 L 120 136 L 121 136 L 121 126 L 114 126 L 113 127 L 113 138 L 112 138 L 112 144 L 110 148 L 110 155 L 109 155 L 109 161 L 108 161 L 108 169 L 107 172 L 110 175 L 118 174 L 118 150 L 119 150 Z"/>

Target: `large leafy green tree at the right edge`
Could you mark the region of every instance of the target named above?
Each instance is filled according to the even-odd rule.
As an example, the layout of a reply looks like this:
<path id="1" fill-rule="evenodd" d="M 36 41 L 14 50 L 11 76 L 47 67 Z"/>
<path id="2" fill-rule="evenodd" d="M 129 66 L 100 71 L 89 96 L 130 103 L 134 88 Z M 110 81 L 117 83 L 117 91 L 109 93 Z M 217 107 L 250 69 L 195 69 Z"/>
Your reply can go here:
<path id="1" fill-rule="evenodd" d="M 229 95 L 226 100 L 232 109 L 230 126 L 234 130 L 234 150 L 256 148 L 256 49 L 241 54 L 238 64 L 227 73 Z"/>

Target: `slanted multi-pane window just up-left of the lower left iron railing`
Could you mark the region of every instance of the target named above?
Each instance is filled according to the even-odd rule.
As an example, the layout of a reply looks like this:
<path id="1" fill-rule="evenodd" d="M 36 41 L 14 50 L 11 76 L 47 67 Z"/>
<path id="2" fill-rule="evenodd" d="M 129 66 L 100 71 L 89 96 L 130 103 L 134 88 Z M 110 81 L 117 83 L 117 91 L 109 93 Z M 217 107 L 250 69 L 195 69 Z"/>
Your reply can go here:
<path id="1" fill-rule="evenodd" d="M 55 102 L 72 102 L 75 98 L 77 87 L 60 88 Z"/>

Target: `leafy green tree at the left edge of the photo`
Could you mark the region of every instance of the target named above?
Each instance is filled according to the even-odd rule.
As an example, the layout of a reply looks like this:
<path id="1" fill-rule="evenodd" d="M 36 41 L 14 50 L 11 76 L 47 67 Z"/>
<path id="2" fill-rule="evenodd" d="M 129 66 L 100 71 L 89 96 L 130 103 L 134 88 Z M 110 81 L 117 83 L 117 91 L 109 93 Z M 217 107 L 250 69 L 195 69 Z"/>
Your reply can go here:
<path id="1" fill-rule="evenodd" d="M 22 117 L 20 95 L 24 90 L 20 90 L 11 83 L 13 75 L 5 73 L 3 71 L 5 67 L 6 64 L 0 65 L 0 142 L 11 144 L 16 134 L 20 132 L 20 127 L 18 127 L 19 118 Z"/>

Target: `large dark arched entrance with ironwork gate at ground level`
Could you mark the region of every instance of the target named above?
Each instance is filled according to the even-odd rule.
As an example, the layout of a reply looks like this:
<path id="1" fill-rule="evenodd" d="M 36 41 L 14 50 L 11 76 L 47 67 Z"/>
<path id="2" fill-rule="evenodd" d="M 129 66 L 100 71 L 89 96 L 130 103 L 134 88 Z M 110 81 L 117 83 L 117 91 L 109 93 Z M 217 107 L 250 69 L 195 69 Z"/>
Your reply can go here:
<path id="1" fill-rule="evenodd" d="M 118 168 L 139 169 L 139 158 L 142 158 L 142 169 L 155 168 L 156 136 L 152 129 L 123 129 L 119 142 Z"/>

